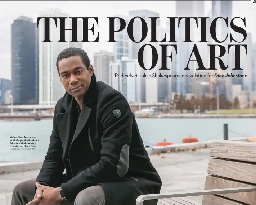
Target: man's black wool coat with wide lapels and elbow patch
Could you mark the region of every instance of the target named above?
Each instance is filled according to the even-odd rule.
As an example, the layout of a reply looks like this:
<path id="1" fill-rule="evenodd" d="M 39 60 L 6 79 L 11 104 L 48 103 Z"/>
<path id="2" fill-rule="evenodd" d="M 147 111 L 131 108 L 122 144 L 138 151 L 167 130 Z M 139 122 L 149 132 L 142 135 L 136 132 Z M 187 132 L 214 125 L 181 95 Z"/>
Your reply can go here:
<path id="1" fill-rule="evenodd" d="M 57 102 L 49 148 L 36 181 L 61 186 L 70 202 L 95 185 L 103 187 L 107 204 L 136 204 L 139 195 L 159 193 L 161 179 L 125 97 L 97 82 L 93 74 L 78 121 L 75 104 L 67 92 Z"/>

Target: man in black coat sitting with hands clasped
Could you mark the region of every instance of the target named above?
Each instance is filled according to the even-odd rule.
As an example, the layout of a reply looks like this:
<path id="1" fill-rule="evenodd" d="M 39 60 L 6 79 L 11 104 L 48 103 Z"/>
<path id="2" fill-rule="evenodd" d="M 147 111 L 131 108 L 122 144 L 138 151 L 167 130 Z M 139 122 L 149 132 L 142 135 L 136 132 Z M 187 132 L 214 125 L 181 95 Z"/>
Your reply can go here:
<path id="1" fill-rule="evenodd" d="M 15 186 L 12 204 L 136 204 L 140 195 L 160 193 L 125 97 L 96 81 L 80 48 L 63 50 L 56 66 L 67 92 L 55 106 L 40 173 Z"/>

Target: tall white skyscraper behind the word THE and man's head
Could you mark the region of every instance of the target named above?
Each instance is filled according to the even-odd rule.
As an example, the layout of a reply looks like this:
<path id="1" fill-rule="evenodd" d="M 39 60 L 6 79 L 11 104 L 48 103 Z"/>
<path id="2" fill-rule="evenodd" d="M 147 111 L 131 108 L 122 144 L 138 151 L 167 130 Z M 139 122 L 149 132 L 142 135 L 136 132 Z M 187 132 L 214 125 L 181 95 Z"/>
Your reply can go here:
<path id="1" fill-rule="evenodd" d="M 59 9 L 50 9 L 40 13 L 40 17 L 57 17 L 57 28 L 53 19 L 50 19 L 50 40 L 44 41 L 44 19 L 39 22 L 39 104 L 56 104 L 65 94 L 62 83 L 59 80 L 59 74 L 56 68 L 56 59 L 58 54 L 68 47 L 82 48 L 82 43 L 70 43 L 71 30 L 65 32 L 65 40 L 59 41 L 59 19 L 58 17 L 69 17 Z M 78 19 L 79 20 L 79 19 Z M 42 21 L 42 22 L 41 22 Z M 82 40 L 82 23 L 77 23 L 78 41 Z M 65 28 L 71 28 L 71 19 L 66 19 Z"/>

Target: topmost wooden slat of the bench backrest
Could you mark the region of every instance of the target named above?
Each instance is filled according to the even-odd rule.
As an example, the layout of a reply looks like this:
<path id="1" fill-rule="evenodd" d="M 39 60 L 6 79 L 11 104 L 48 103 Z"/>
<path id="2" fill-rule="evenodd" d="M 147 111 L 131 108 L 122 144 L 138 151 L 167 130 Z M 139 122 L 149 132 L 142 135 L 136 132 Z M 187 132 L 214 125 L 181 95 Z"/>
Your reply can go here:
<path id="1" fill-rule="evenodd" d="M 234 159 L 243 162 L 256 162 L 255 148 L 255 142 L 213 142 L 211 145 L 210 157 Z"/>

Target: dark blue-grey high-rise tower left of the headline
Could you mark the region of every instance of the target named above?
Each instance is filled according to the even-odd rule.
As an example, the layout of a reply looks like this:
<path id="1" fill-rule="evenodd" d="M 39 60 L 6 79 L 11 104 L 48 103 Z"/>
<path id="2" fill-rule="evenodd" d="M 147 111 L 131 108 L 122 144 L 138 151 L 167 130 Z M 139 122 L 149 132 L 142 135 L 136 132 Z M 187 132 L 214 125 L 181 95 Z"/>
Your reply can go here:
<path id="1" fill-rule="evenodd" d="M 13 104 L 38 104 L 37 24 L 21 16 L 12 23 L 11 33 Z"/>

